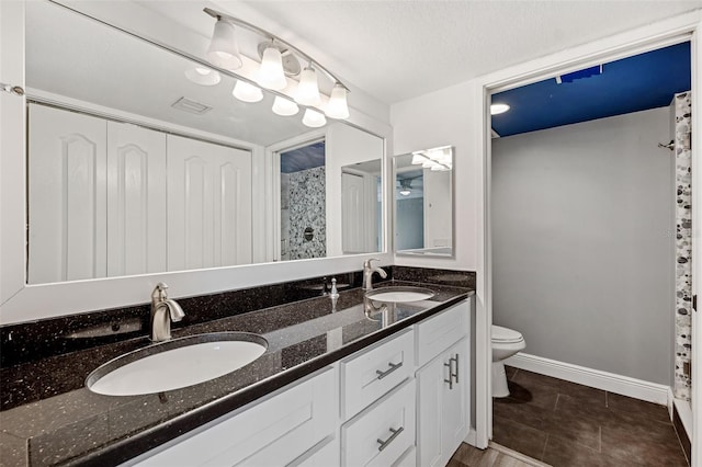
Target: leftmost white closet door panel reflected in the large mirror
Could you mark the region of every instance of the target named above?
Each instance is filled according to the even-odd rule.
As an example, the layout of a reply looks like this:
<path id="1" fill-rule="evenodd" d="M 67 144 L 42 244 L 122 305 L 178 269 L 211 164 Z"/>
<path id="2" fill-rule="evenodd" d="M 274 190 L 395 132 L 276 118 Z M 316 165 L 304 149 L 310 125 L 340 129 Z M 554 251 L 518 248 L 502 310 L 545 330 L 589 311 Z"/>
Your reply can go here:
<path id="1" fill-rule="evenodd" d="M 106 275 L 106 124 L 29 109 L 29 282 Z"/>

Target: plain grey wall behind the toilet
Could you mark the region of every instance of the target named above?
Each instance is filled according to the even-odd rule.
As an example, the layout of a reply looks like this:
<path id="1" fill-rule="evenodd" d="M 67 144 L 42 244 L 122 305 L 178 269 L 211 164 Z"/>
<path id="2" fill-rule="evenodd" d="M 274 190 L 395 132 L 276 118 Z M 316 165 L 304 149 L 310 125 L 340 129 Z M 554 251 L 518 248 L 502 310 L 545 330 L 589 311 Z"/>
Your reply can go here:
<path id="1" fill-rule="evenodd" d="M 670 385 L 668 107 L 492 140 L 492 321 L 526 353 Z"/>

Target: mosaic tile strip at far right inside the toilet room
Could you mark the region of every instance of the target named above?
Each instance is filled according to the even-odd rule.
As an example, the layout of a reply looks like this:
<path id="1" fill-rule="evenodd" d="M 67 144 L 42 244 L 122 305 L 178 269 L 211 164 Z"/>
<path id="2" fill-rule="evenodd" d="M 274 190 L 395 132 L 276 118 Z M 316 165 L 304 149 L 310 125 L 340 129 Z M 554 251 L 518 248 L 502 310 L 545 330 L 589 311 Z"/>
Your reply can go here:
<path id="1" fill-rule="evenodd" d="M 692 173 L 690 92 L 676 94 L 675 152 L 676 152 L 676 380 L 675 397 L 690 400 L 690 375 L 684 364 L 690 362 L 692 340 Z"/>

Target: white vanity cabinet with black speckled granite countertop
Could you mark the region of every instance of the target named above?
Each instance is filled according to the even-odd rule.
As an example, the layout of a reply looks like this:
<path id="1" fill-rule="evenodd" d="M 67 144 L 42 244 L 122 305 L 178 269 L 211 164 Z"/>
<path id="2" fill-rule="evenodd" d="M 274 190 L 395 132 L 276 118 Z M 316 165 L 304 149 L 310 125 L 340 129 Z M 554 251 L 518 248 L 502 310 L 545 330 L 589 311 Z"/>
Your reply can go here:
<path id="1" fill-rule="evenodd" d="M 435 295 L 390 303 L 354 288 L 173 329 L 253 332 L 268 350 L 158 394 L 104 396 L 82 383 L 145 338 L 5 367 L 11 397 L 27 402 L 0 412 L 3 465 L 445 465 L 469 425 L 473 293 L 422 285 Z M 33 384 L 47 372 L 70 372 L 76 387 L 32 398 L 50 389 Z"/>

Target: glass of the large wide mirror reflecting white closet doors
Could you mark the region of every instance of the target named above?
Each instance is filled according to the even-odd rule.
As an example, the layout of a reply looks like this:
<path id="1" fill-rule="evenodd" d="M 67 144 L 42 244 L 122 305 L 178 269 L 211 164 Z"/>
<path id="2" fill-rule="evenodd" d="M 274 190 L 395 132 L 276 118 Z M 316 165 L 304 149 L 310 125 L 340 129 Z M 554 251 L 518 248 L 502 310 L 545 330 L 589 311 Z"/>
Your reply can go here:
<path id="1" fill-rule="evenodd" d="M 383 138 L 61 5 L 25 18 L 29 284 L 383 251 Z"/>

